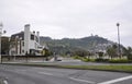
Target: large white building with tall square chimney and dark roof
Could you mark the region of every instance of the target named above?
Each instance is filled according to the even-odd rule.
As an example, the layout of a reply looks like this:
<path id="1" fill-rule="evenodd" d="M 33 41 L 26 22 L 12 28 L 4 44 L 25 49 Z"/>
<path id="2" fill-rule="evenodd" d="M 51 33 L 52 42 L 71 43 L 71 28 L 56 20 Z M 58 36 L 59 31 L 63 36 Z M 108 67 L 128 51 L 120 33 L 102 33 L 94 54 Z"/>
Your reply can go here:
<path id="1" fill-rule="evenodd" d="M 30 24 L 24 25 L 24 32 L 13 34 L 10 41 L 11 56 L 41 55 L 44 48 L 40 45 L 40 33 L 30 32 Z"/>

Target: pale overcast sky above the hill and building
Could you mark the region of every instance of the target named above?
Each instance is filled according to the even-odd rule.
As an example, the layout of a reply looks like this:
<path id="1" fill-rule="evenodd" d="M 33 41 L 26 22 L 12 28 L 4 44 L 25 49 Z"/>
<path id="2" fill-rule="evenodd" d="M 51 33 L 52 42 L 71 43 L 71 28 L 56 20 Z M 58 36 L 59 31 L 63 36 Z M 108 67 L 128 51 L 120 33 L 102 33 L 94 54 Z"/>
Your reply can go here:
<path id="1" fill-rule="evenodd" d="M 132 0 L 0 0 L 0 22 L 10 36 L 31 24 L 31 31 L 52 38 L 99 35 L 132 46 Z"/>

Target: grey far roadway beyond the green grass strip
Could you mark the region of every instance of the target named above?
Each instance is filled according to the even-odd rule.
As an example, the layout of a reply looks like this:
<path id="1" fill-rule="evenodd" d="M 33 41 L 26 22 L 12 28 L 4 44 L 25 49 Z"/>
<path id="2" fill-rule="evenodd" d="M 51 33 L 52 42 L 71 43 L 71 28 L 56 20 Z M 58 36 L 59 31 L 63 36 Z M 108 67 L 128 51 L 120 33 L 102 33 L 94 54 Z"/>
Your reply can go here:
<path id="1" fill-rule="evenodd" d="M 96 63 L 96 62 L 84 62 L 73 58 L 58 58 L 61 61 L 54 61 L 54 58 L 51 61 L 42 61 L 42 60 L 29 60 L 30 63 L 45 63 L 45 64 L 61 64 L 61 65 L 132 65 L 132 63 Z M 18 61 L 7 61 L 3 63 L 25 63 L 25 60 Z"/>

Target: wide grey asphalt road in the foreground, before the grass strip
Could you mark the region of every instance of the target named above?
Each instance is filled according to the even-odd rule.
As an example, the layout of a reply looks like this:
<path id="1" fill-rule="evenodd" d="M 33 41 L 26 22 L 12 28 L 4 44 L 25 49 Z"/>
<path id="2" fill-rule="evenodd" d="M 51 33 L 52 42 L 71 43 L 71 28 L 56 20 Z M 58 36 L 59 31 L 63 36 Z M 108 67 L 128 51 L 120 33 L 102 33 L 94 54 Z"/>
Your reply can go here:
<path id="1" fill-rule="evenodd" d="M 132 74 L 120 72 L 0 64 L 4 84 L 132 84 Z"/>

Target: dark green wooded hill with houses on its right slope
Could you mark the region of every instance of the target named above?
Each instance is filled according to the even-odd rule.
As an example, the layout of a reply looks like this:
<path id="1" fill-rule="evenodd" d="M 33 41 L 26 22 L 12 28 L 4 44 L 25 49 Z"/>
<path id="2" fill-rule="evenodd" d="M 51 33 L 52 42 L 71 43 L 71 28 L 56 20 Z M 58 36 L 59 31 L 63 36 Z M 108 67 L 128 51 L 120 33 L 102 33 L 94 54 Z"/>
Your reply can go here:
<path id="1" fill-rule="evenodd" d="M 84 38 L 63 38 L 52 39 L 51 37 L 41 37 L 41 45 L 46 45 L 52 51 L 65 53 L 74 50 L 99 51 L 106 50 L 113 41 L 99 36 L 89 36 Z"/>

